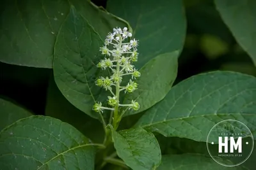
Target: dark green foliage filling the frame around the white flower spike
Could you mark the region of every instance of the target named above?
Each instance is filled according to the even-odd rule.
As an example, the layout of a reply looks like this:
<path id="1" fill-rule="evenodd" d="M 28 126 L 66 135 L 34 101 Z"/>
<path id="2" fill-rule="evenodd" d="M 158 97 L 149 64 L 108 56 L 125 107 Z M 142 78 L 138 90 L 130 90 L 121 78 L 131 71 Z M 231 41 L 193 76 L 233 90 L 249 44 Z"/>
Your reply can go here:
<path id="1" fill-rule="evenodd" d="M 255 8 L 253 0 L 3 0 L 0 169 L 255 169 L 255 149 L 225 167 L 206 145 L 228 119 L 256 139 Z M 138 39 L 141 73 L 138 90 L 120 94 L 140 109 L 118 110 L 117 129 L 111 111 L 92 110 L 108 103 L 95 81 L 111 75 L 97 63 L 116 27 Z"/>

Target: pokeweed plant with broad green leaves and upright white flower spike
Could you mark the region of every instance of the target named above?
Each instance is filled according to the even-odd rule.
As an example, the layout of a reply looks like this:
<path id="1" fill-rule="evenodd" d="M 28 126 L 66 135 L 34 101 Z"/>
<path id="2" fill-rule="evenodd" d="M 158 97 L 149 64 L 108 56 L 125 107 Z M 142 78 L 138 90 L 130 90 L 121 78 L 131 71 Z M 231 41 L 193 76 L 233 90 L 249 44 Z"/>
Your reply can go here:
<path id="1" fill-rule="evenodd" d="M 255 59 L 253 24 L 234 27 L 227 1 L 216 7 Z M 255 131 L 254 76 L 211 71 L 172 87 L 186 37 L 182 1 L 108 0 L 106 11 L 84 0 L 4 0 L 1 9 L 1 62 L 53 78 L 44 115 L 1 97 L 0 169 L 230 169 L 209 157 L 207 134 L 227 119 Z"/>

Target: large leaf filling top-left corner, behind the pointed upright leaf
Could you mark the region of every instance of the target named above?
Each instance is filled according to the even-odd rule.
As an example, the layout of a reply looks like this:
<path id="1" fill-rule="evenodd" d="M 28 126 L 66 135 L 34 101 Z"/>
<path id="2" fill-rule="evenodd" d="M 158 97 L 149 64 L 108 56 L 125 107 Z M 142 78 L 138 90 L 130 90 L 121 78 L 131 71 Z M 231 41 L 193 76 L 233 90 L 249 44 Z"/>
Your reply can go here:
<path id="1" fill-rule="evenodd" d="M 127 25 L 87 0 L 4 0 L 0 7 L 0 61 L 51 68 L 56 36 L 71 5 L 101 38 L 106 37 L 109 29 Z"/>

